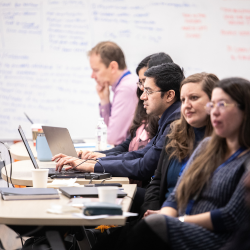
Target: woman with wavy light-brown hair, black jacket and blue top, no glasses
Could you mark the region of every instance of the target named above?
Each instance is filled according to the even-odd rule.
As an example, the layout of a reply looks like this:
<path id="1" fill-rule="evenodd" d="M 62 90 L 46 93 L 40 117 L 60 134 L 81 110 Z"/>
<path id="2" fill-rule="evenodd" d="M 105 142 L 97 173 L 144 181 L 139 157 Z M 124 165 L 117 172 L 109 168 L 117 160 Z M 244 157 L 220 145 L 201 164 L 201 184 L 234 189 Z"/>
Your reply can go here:
<path id="1" fill-rule="evenodd" d="M 210 117 L 204 106 L 210 101 L 217 76 L 208 73 L 197 73 L 184 79 L 181 83 L 181 119 L 171 124 L 154 178 L 147 187 L 143 214 L 148 209 L 159 210 L 173 191 L 180 170 L 198 143 L 212 133 Z M 147 211 L 145 215 L 151 213 Z"/>

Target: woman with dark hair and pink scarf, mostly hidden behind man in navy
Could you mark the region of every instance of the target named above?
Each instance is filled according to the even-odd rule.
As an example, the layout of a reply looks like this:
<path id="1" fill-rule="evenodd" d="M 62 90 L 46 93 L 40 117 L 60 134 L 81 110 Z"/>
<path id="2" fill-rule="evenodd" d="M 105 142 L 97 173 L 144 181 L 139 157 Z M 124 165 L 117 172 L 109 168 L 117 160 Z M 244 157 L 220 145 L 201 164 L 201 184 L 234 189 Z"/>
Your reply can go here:
<path id="1" fill-rule="evenodd" d="M 93 152 L 89 150 L 80 151 L 78 153 L 79 157 L 82 159 L 96 159 L 98 157 L 118 155 L 128 151 L 130 152 L 142 149 L 149 143 L 150 139 L 152 139 L 157 133 L 159 118 L 155 116 L 148 116 L 146 110 L 143 107 L 143 100 L 140 99 L 140 96 L 144 90 L 143 86 L 146 79 L 144 73 L 152 66 L 169 62 L 173 62 L 169 55 L 163 52 L 156 53 L 144 58 L 136 68 L 136 74 L 139 76 L 137 88 L 137 97 L 139 101 L 128 138 L 118 146 L 109 150 L 99 152 Z"/>

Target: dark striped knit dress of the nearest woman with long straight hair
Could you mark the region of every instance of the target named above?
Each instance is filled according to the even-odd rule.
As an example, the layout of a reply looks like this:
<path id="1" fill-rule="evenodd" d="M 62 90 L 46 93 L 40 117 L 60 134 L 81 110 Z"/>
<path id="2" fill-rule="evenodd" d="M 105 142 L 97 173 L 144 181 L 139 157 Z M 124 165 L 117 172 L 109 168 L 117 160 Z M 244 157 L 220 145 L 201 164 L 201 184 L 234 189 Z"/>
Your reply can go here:
<path id="1" fill-rule="evenodd" d="M 209 138 L 204 139 L 194 151 L 185 171 L 195 156 L 202 152 L 208 140 Z M 249 156 L 248 152 L 213 174 L 192 207 L 191 215 L 211 213 L 213 231 L 166 216 L 169 239 L 173 249 L 219 249 L 248 218 L 243 180 L 245 178 L 244 162 Z M 175 198 L 177 186 L 164 203 L 165 207 L 177 208 Z M 179 215 L 183 215 L 184 212 L 179 211 Z"/>

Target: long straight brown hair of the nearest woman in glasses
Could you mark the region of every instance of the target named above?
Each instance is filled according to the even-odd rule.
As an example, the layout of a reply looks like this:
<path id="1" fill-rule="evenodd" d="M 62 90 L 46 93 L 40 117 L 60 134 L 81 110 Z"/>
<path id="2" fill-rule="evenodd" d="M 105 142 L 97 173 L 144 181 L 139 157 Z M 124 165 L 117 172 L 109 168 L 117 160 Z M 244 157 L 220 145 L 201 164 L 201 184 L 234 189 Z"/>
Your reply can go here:
<path id="1" fill-rule="evenodd" d="M 227 78 L 219 81 L 216 86 L 221 88 L 244 112 L 243 122 L 239 128 L 239 144 L 250 148 L 250 82 L 242 78 Z M 176 191 L 178 208 L 184 210 L 188 200 L 199 194 L 208 183 L 215 169 L 223 163 L 228 146 L 226 138 L 219 137 L 215 132 L 205 148 L 193 161 L 191 166 L 183 173 L 182 180 Z"/>

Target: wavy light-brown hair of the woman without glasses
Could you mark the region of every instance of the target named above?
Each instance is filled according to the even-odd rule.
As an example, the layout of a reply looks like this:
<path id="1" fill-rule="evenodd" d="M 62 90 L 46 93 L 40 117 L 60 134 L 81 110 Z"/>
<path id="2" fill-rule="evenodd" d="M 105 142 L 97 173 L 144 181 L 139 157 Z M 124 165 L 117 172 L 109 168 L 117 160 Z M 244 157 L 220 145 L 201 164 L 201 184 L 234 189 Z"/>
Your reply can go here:
<path id="1" fill-rule="evenodd" d="M 197 73 L 191 75 L 181 82 L 181 88 L 187 83 L 201 84 L 202 90 L 211 99 L 212 90 L 215 83 L 219 81 L 218 77 L 214 74 Z M 205 137 L 210 136 L 213 131 L 213 127 L 210 121 L 210 117 L 207 116 Z M 183 114 L 179 120 L 174 121 L 170 125 L 170 133 L 167 135 L 168 144 L 166 146 L 166 152 L 170 154 L 170 158 L 176 157 L 181 162 L 194 151 L 195 134 L 193 128 L 187 123 Z"/>

